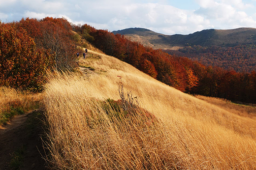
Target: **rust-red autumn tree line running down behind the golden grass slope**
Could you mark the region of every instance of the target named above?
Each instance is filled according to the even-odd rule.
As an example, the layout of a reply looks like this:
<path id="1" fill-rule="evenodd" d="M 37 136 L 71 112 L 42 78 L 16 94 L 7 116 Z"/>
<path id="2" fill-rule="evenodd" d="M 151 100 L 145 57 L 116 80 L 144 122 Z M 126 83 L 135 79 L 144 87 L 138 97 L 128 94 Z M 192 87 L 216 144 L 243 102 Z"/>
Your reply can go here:
<path id="1" fill-rule="evenodd" d="M 76 27 L 75 30 L 84 37 L 90 37 L 91 43 L 107 55 L 128 62 L 151 77 L 183 92 L 256 103 L 255 70 L 251 73 L 239 73 L 217 66 L 206 66 L 188 57 L 169 55 L 162 50 L 144 47 L 123 35 L 114 35 L 108 30 L 95 29 L 89 25 Z M 222 51 L 219 53 L 223 54 Z M 251 54 L 243 55 L 248 57 Z"/>

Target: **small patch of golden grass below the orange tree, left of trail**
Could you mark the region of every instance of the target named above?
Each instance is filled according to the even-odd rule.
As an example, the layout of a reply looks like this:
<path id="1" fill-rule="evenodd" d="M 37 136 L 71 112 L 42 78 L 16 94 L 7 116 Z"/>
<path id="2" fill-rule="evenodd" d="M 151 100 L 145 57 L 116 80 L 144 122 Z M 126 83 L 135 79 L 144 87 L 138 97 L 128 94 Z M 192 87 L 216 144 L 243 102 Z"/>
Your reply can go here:
<path id="1" fill-rule="evenodd" d="M 16 114 L 23 114 L 38 108 L 41 99 L 41 94 L 29 94 L 14 88 L 0 87 L 0 125 Z"/>

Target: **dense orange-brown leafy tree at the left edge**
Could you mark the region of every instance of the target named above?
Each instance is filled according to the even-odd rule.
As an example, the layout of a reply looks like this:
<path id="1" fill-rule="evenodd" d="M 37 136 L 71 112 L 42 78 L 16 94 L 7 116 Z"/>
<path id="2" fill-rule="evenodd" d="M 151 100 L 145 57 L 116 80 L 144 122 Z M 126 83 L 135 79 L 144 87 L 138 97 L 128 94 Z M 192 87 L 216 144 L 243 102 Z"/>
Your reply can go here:
<path id="1" fill-rule="evenodd" d="M 23 28 L 0 23 L 0 85 L 41 90 L 50 58 L 47 51 L 35 48 Z"/>

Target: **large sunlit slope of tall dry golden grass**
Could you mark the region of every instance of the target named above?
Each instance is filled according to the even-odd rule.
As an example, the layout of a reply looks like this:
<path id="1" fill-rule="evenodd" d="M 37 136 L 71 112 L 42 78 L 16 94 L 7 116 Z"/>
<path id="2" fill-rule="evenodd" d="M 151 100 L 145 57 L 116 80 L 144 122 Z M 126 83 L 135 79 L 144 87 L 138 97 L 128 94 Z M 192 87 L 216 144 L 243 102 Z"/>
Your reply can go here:
<path id="1" fill-rule="evenodd" d="M 256 116 L 237 114 L 164 85 L 114 57 L 89 51 L 94 68 L 50 76 L 45 90 L 50 160 L 57 169 L 256 169 Z M 79 71 L 80 71 L 79 70 Z M 125 91 L 157 120 L 113 118 L 102 102 Z M 125 113 L 122 113 L 125 114 Z"/>

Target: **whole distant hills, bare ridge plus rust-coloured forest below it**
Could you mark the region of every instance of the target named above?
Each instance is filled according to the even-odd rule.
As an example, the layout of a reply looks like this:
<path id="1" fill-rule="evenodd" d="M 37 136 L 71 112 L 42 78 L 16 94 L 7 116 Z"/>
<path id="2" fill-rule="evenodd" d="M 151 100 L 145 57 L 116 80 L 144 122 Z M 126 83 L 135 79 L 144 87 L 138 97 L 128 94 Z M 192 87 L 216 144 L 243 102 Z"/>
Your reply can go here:
<path id="1" fill-rule="evenodd" d="M 127 28 L 113 33 L 207 66 L 240 73 L 256 70 L 255 28 L 206 29 L 189 35 L 164 35 L 144 28 Z"/>

